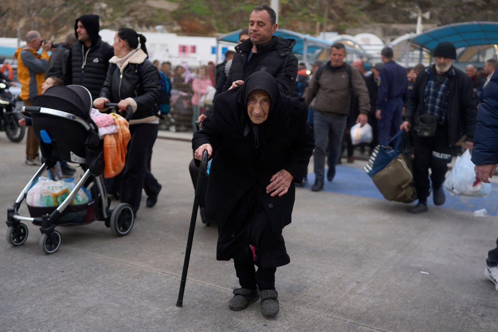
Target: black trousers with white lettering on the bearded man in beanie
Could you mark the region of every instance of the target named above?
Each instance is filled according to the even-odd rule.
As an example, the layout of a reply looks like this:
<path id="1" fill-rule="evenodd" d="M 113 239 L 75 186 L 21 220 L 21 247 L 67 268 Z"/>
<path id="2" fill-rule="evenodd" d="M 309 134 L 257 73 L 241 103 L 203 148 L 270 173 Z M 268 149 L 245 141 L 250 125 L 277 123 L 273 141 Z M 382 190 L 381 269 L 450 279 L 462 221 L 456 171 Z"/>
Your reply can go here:
<path id="1" fill-rule="evenodd" d="M 414 133 L 413 178 L 420 203 L 426 203 L 430 193 L 429 168 L 431 169 L 432 188 L 443 185 L 448 163 L 451 162 L 451 147 L 448 140 L 448 127 L 438 125 L 434 137 L 418 137 Z"/>

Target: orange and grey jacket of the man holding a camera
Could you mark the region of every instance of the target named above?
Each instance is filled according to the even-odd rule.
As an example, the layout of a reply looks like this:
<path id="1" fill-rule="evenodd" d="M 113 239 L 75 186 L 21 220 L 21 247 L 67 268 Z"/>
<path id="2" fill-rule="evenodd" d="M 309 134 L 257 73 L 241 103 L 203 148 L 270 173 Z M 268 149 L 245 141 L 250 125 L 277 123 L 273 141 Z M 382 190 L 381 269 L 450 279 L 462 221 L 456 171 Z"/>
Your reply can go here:
<path id="1" fill-rule="evenodd" d="M 41 95 L 41 84 L 45 81 L 49 57 L 47 52 L 38 54 L 35 49 L 27 46 L 15 51 L 17 78 L 22 84 L 19 95 L 21 100 L 25 101 Z"/>

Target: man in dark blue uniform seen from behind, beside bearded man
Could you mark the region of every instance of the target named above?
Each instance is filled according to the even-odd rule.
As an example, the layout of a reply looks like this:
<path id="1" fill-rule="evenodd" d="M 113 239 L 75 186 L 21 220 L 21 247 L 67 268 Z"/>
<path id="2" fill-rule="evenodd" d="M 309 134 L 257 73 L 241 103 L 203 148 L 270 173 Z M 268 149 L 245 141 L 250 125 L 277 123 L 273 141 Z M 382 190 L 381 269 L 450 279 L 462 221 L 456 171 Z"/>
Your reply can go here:
<path id="1" fill-rule="evenodd" d="M 403 121 L 403 107 L 408 101 L 406 70 L 392 60 L 392 48 L 386 46 L 380 52 L 384 67 L 380 70 L 380 86 L 377 94 L 378 142 L 385 145 Z"/>

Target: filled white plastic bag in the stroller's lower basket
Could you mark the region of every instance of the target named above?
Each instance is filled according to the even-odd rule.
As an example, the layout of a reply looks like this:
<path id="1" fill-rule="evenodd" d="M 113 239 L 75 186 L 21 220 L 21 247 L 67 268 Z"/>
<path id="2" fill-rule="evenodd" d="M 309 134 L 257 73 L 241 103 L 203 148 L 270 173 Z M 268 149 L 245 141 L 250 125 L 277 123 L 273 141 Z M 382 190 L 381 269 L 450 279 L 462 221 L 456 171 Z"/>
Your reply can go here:
<path id="1" fill-rule="evenodd" d="M 53 181 L 40 177 L 38 182 L 29 189 L 26 203 L 32 207 L 57 207 L 69 196 L 75 186 L 72 182 Z M 87 202 L 87 194 L 80 189 L 71 204 L 79 205 Z"/>

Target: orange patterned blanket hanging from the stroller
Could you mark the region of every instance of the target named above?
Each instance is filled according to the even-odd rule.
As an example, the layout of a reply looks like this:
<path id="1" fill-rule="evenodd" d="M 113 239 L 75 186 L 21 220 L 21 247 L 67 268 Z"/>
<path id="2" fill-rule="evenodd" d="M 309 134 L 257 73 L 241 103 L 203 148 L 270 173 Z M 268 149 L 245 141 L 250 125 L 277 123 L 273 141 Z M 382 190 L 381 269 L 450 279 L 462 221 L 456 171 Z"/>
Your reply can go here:
<path id="1" fill-rule="evenodd" d="M 112 178 L 120 174 L 126 161 L 126 147 L 131 138 L 128 121 L 123 116 L 111 113 L 118 128 L 115 134 L 104 135 L 104 177 Z"/>

